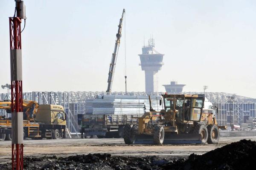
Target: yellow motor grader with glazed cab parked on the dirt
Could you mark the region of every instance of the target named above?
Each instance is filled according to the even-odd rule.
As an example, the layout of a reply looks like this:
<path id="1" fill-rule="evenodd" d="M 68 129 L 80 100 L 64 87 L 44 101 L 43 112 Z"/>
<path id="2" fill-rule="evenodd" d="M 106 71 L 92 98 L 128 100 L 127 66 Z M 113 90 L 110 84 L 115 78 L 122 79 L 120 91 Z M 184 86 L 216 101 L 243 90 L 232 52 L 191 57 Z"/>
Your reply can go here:
<path id="1" fill-rule="evenodd" d="M 123 137 L 125 144 L 197 143 L 215 144 L 219 141 L 219 128 L 215 109 L 204 113 L 204 95 L 162 95 L 162 110 L 150 112 L 138 118 L 138 124 L 126 124 Z M 218 108 L 216 109 L 218 114 Z"/>

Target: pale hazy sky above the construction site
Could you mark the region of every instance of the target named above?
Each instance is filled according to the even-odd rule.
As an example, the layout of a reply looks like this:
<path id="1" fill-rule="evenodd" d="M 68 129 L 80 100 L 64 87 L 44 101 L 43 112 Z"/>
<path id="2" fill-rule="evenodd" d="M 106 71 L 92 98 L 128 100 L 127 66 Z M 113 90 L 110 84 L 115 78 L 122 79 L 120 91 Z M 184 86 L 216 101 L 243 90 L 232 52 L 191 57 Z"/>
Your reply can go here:
<path id="1" fill-rule="evenodd" d="M 229 92 L 256 98 L 254 0 L 24 0 L 23 91 L 105 91 L 117 25 L 126 11 L 128 91 L 145 91 L 139 66 L 143 38 L 165 54 L 162 84 L 183 91 Z M 0 85 L 10 83 L 9 19 L 0 5 Z M 22 23 L 23 27 L 23 23 Z M 125 91 L 124 30 L 112 91 Z M 6 89 L 0 89 L 6 92 Z"/>

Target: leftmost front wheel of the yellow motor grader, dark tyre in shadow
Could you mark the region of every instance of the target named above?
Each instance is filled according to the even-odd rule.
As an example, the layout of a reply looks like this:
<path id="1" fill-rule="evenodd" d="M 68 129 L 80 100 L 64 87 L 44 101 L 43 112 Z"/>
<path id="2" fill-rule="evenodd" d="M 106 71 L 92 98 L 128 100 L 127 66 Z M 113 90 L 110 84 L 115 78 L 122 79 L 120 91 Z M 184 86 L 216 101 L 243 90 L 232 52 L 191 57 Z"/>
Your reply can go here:
<path id="1" fill-rule="evenodd" d="M 135 130 L 138 129 L 137 125 L 132 124 L 125 124 L 124 130 L 123 130 L 123 137 L 125 144 L 134 144 L 135 140 Z"/>

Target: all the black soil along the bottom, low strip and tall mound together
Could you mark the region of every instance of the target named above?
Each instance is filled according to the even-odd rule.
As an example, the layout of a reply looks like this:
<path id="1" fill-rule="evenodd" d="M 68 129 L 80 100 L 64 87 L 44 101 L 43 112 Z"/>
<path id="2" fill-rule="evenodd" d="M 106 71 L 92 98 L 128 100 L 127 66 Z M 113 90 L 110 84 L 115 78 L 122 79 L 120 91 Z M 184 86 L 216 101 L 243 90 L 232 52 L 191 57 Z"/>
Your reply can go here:
<path id="1" fill-rule="evenodd" d="M 250 170 L 256 163 L 255 153 L 255 141 L 241 140 L 204 155 L 191 154 L 188 159 L 171 156 L 111 156 L 99 153 L 64 158 L 26 157 L 24 170 Z M 11 164 L 0 164 L 0 170 L 2 169 L 11 170 Z"/>

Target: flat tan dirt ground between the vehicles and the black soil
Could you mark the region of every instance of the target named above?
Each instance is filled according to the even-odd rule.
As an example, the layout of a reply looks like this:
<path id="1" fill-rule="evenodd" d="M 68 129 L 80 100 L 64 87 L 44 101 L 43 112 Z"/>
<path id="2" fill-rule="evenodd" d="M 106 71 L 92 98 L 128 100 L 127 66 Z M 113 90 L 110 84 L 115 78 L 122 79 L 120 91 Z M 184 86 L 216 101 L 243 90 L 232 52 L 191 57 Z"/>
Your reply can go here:
<path id="1" fill-rule="evenodd" d="M 204 154 L 210 150 L 241 139 L 256 141 L 251 137 L 221 137 L 219 144 L 166 144 L 126 145 L 122 138 L 25 140 L 24 156 L 41 157 L 44 155 L 71 156 L 89 153 L 110 153 L 113 156 L 174 156 L 187 157 L 192 153 Z M 11 141 L 0 141 L 0 162 L 10 161 Z"/>

